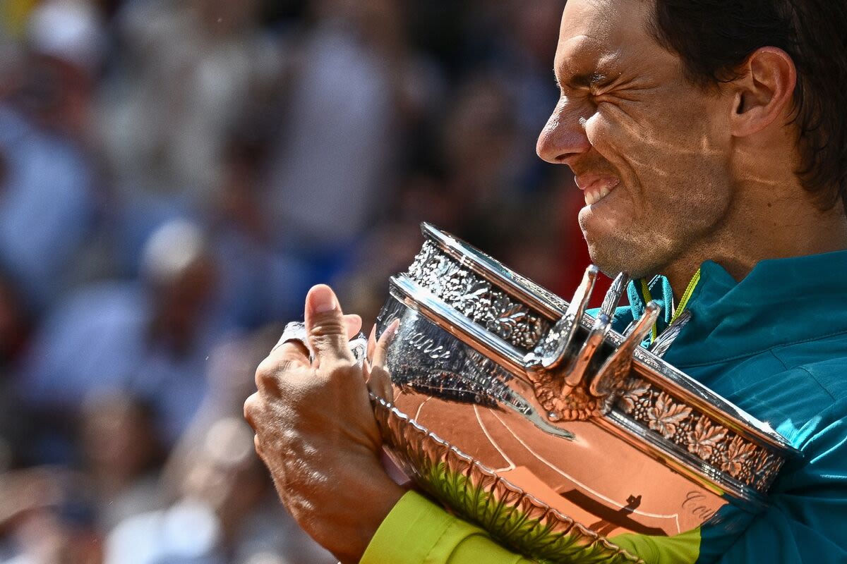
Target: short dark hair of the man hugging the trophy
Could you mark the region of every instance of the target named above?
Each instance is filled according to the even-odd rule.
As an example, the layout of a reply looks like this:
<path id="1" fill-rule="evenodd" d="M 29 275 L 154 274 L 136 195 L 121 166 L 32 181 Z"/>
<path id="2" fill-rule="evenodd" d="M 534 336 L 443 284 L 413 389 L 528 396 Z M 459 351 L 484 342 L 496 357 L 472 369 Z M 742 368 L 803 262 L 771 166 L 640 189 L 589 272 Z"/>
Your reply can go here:
<path id="1" fill-rule="evenodd" d="M 847 3 L 844 0 L 655 0 L 656 39 L 695 84 L 715 85 L 760 47 L 797 68 L 796 171 L 822 209 L 847 211 Z"/>

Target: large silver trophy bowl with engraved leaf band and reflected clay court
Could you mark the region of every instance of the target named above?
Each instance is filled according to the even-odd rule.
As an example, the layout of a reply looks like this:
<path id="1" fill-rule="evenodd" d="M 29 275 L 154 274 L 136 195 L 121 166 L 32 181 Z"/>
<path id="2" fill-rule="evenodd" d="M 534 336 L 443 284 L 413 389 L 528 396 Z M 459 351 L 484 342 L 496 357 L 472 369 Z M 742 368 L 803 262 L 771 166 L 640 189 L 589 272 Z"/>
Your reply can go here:
<path id="1" fill-rule="evenodd" d="M 423 249 L 390 279 L 377 322 L 381 333 L 399 321 L 390 382 L 372 386 L 385 450 L 418 488 L 552 562 L 639 561 L 610 539 L 735 528 L 767 507 L 796 452 L 664 362 L 667 338 L 639 346 L 656 304 L 612 331 L 625 277 L 592 316 L 594 267 L 568 303 L 422 228 Z M 727 506 L 740 511 L 725 518 Z"/>

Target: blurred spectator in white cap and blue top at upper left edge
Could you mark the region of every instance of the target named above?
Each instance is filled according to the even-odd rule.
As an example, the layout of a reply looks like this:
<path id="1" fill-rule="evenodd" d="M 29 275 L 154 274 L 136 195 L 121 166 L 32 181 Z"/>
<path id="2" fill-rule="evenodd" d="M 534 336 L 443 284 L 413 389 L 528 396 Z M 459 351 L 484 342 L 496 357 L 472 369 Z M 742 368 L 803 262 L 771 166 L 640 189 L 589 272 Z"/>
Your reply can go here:
<path id="1" fill-rule="evenodd" d="M 93 8 L 42 3 L 0 88 L 0 261 L 39 308 L 71 279 L 95 212 L 86 147 L 101 48 Z"/>

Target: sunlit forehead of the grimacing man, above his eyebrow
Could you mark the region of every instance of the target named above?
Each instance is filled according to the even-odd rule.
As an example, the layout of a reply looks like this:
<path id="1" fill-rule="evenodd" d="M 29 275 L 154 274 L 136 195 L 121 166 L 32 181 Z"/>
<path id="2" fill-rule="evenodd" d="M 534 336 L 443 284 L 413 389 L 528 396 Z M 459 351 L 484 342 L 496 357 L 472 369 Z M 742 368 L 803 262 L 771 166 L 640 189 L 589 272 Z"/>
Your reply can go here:
<path id="1" fill-rule="evenodd" d="M 557 64 L 584 57 L 641 57 L 659 49 L 648 31 L 649 0 L 567 0 Z"/>

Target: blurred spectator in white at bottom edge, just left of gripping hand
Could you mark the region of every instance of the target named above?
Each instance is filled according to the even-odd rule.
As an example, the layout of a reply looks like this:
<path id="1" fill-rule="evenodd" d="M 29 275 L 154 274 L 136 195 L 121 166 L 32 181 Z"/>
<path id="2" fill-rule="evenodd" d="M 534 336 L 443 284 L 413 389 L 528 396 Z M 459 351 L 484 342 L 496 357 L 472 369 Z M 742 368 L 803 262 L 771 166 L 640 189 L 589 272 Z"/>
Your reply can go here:
<path id="1" fill-rule="evenodd" d="M 113 530 L 106 564 L 335 562 L 268 495 L 268 475 L 241 418 L 211 424 L 185 466 L 173 505 Z"/>

